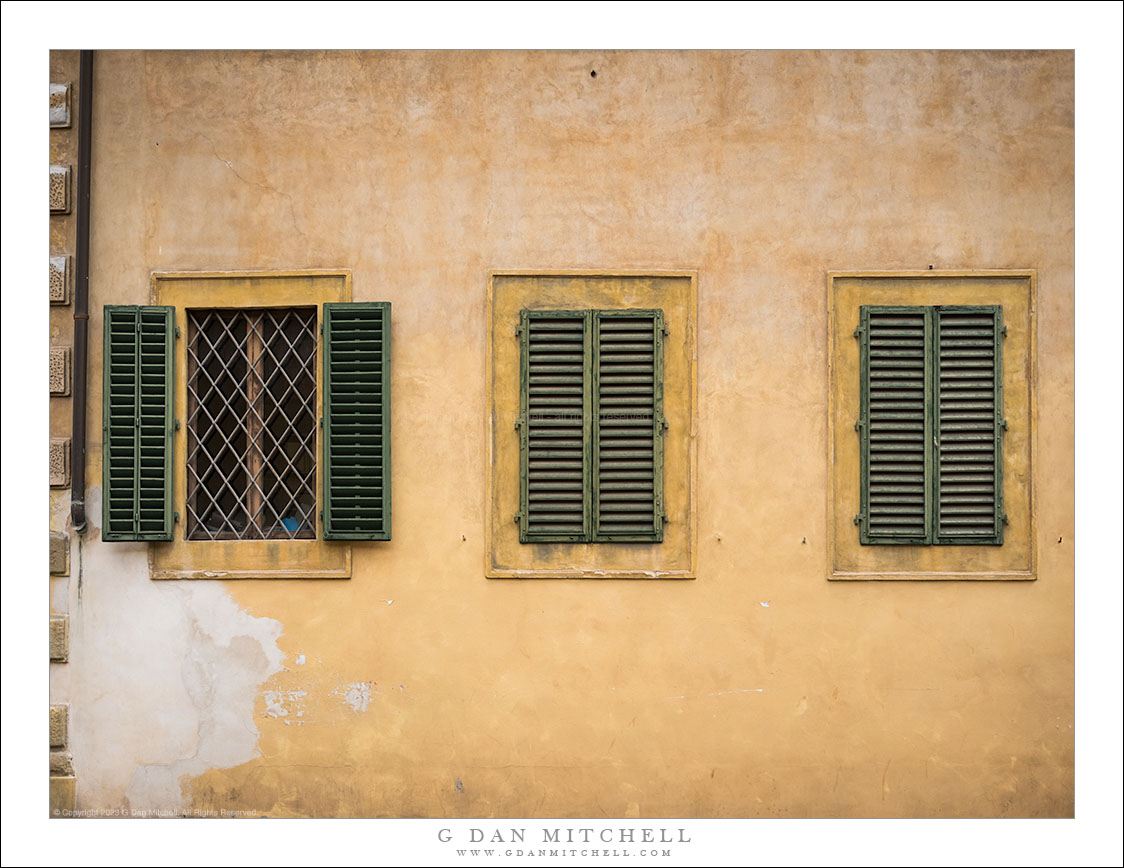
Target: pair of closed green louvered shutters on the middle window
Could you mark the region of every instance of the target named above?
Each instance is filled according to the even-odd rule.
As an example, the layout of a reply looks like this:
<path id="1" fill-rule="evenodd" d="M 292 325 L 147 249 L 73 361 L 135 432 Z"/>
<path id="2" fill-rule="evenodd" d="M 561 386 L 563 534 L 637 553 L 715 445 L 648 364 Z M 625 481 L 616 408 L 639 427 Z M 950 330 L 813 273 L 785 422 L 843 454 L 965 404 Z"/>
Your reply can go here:
<path id="1" fill-rule="evenodd" d="M 520 313 L 519 541 L 663 540 L 663 311 Z"/>

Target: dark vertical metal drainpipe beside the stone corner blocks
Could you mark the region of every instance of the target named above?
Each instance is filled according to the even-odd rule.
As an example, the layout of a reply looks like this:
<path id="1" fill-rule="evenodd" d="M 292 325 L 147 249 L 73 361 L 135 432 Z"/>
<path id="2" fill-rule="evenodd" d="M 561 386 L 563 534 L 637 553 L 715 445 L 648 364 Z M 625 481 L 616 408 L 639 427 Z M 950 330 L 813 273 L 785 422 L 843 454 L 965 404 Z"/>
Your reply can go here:
<path id="1" fill-rule="evenodd" d="M 93 52 L 79 52 L 78 226 L 74 253 L 74 400 L 71 423 L 71 524 L 85 533 L 85 369 L 90 332 L 90 163 L 93 132 Z"/>

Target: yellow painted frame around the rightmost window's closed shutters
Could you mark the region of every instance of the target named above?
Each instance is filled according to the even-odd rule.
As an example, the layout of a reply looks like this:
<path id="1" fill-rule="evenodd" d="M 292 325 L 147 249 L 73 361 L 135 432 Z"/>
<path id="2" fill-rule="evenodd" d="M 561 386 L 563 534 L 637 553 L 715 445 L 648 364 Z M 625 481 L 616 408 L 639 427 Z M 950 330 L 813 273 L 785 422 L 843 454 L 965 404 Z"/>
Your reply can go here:
<path id="1" fill-rule="evenodd" d="M 998 305 L 1003 308 L 1003 545 L 862 545 L 859 341 L 863 305 Z M 1027 581 L 1037 577 L 1037 273 L 1033 269 L 827 273 L 828 575 L 834 581 Z"/>

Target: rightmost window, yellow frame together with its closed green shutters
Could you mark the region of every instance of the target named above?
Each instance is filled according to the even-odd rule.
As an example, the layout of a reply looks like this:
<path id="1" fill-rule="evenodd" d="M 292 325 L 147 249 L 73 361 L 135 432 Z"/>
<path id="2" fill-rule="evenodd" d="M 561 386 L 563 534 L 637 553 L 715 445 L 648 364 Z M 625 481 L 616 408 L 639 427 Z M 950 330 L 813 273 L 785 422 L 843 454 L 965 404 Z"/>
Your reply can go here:
<path id="1" fill-rule="evenodd" d="M 827 274 L 827 578 L 1036 572 L 1031 269 Z"/>

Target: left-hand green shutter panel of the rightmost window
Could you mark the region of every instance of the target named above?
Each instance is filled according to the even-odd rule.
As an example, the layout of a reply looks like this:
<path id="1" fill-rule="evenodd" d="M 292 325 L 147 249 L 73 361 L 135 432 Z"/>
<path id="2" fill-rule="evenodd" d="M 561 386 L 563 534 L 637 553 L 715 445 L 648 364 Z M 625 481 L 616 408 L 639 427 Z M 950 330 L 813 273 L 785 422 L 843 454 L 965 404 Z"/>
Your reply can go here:
<path id="1" fill-rule="evenodd" d="M 930 309 L 864 306 L 860 316 L 860 541 L 926 544 L 932 542 Z"/>

